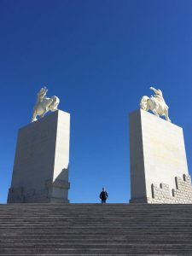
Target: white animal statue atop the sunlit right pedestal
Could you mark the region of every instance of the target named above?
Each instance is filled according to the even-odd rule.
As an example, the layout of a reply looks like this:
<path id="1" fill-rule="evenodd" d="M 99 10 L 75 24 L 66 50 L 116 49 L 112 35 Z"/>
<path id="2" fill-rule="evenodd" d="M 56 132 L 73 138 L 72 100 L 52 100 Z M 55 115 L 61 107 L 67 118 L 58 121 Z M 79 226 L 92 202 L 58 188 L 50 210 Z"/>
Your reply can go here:
<path id="1" fill-rule="evenodd" d="M 151 96 L 143 96 L 140 102 L 140 107 L 143 110 L 151 110 L 156 116 L 164 115 L 168 122 L 171 122 L 168 115 L 169 107 L 166 105 L 166 102 L 163 98 L 162 91 L 160 89 L 156 90 L 154 87 L 150 87 L 150 90 L 154 90 L 155 95 Z"/>

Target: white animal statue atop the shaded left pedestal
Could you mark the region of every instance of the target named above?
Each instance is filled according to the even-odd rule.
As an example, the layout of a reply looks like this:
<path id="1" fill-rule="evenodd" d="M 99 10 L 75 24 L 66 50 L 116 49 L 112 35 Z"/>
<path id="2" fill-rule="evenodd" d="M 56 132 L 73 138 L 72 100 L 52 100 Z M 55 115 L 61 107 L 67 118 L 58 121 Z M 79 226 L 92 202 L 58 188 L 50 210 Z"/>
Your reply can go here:
<path id="1" fill-rule="evenodd" d="M 37 121 L 37 115 L 40 115 L 40 118 L 43 118 L 45 113 L 49 110 L 51 112 L 57 110 L 57 106 L 60 102 L 59 98 L 57 96 L 52 96 L 50 98 L 46 97 L 47 91 L 46 87 L 44 87 L 38 92 L 38 99 L 33 108 L 32 122 Z"/>

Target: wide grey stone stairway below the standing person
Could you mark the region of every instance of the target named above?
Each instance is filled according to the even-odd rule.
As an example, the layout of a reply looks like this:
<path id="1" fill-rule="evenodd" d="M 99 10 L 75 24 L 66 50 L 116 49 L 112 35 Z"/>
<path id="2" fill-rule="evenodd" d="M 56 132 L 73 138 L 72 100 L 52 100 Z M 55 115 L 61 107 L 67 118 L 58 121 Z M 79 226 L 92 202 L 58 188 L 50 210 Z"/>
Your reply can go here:
<path id="1" fill-rule="evenodd" d="M 0 205 L 0 255 L 192 255 L 192 205 Z"/>

